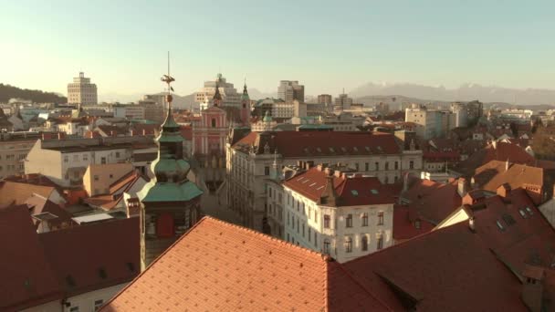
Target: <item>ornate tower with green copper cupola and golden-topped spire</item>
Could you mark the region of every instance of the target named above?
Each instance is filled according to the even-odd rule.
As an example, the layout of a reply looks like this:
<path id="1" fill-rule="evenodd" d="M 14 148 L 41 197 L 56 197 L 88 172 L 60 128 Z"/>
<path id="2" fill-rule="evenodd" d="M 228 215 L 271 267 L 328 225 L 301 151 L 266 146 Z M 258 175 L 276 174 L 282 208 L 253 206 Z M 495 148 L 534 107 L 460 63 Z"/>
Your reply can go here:
<path id="1" fill-rule="evenodd" d="M 171 83 L 174 80 L 168 61 L 168 74 L 162 77 L 168 86 L 168 111 L 156 138 L 158 158 L 151 164 L 151 181 L 137 193 L 141 202 L 141 270 L 200 220 L 202 214 L 203 192 L 187 179 L 191 166 L 183 159 L 183 137 L 173 120 Z"/>

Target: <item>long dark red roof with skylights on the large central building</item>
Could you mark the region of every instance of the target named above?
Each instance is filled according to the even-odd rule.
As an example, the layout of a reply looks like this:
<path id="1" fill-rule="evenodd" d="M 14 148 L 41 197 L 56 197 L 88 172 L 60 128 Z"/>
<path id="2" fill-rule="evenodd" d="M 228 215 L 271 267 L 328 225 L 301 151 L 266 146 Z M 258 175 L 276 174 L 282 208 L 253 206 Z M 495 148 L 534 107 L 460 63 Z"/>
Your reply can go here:
<path id="1" fill-rule="evenodd" d="M 264 152 L 266 145 L 271 152 L 278 149 L 284 157 L 319 157 L 340 155 L 397 154 L 401 148 L 389 133 L 364 131 L 277 131 L 250 132 L 238 140 L 233 148 L 246 150 L 256 147 Z"/>

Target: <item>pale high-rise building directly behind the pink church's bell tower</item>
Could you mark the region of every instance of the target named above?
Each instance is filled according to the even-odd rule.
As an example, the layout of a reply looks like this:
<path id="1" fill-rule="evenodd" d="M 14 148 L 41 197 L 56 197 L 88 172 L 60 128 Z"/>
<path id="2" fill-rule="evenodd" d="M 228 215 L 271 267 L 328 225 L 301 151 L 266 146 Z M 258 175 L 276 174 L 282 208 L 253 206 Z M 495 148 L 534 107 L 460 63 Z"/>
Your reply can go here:
<path id="1" fill-rule="evenodd" d="M 233 83 L 225 81 L 222 74 L 218 73 L 215 80 L 204 81 L 204 88 L 201 88 L 194 95 L 194 101 L 200 104 L 201 110 L 207 109 L 209 101 L 214 98 L 216 84 L 222 96 L 222 106 L 240 109 L 241 94 L 237 93 L 237 89 L 233 86 Z"/>

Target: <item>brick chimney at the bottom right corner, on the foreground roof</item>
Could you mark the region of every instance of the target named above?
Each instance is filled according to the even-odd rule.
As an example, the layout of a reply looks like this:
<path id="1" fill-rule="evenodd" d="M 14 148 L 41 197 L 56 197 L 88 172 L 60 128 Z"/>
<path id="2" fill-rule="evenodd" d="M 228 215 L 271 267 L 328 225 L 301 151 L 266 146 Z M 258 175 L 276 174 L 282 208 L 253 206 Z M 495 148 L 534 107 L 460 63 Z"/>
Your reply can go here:
<path id="1" fill-rule="evenodd" d="M 539 266 L 526 265 L 522 276 L 522 301 L 531 312 L 542 311 L 543 277 L 545 273 Z"/>

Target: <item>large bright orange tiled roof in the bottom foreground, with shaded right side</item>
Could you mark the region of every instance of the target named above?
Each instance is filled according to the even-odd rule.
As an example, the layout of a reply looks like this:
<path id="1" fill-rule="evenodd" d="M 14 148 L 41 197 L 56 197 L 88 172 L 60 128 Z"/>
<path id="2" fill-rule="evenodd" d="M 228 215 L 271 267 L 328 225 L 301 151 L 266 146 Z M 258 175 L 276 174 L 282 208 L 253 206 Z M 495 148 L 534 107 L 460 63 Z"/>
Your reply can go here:
<path id="1" fill-rule="evenodd" d="M 326 255 L 204 217 L 102 311 L 384 311 Z"/>

